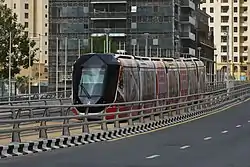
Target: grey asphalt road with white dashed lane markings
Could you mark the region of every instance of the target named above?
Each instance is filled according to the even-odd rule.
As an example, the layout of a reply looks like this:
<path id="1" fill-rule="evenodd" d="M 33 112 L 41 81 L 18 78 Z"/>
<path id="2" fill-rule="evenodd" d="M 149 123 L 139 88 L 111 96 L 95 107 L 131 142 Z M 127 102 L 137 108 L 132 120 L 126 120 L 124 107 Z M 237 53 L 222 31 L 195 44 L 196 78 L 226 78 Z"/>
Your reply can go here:
<path id="1" fill-rule="evenodd" d="M 0 160 L 1 167 L 249 167 L 250 102 L 164 130 Z"/>

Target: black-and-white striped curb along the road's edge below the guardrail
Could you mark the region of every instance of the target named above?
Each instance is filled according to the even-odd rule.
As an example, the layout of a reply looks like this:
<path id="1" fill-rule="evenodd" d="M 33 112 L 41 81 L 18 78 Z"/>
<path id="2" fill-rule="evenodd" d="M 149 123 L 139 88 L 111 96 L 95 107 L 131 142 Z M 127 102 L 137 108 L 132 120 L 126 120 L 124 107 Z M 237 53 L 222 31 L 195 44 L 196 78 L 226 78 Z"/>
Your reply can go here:
<path id="1" fill-rule="evenodd" d="M 209 113 L 213 113 L 211 111 L 214 109 L 220 109 L 225 105 L 234 103 L 237 104 L 238 99 L 233 99 L 230 101 L 226 101 L 222 104 L 211 106 L 209 109 L 198 110 L 168 119 L 162 119 L 158 121 L 148 122 L 145 124 L 134 125 L 131 127 L 115 129 L 112 131 L 99 132 L 95 134 L 83 133 L 82 135 L 78 136 L 61 136 L 55 139 L 41 139 L 38 141 L 31 141 L 28 143 L 13 143 L 7 146 L 0 145 L 0 159 L 45 152 L 60 148 L 75 147 L 100 141 L 117 139 L 134 134 L 144 133 L 162 127 L 170 126 L 176 123 L 184 122 L 189 119 L 194 119 Z"/>

